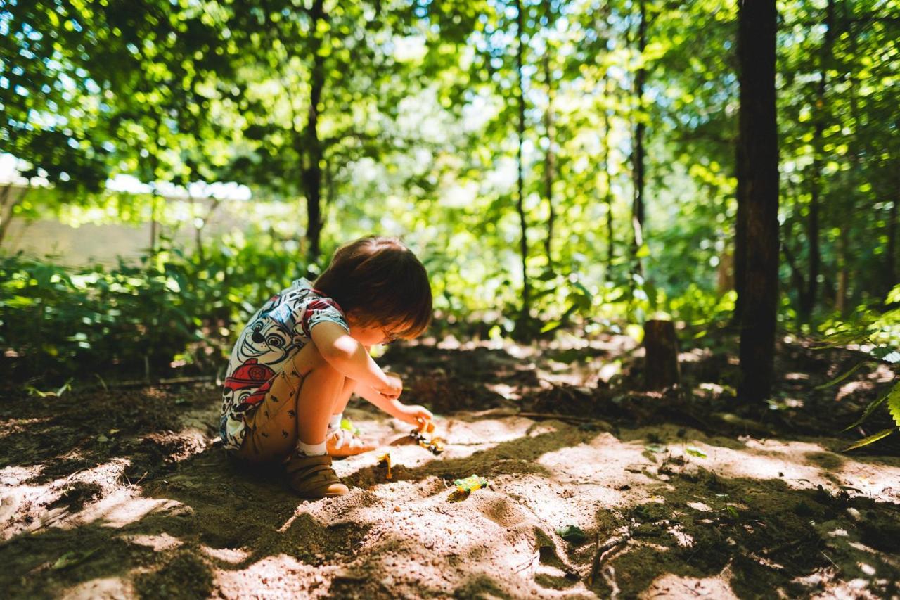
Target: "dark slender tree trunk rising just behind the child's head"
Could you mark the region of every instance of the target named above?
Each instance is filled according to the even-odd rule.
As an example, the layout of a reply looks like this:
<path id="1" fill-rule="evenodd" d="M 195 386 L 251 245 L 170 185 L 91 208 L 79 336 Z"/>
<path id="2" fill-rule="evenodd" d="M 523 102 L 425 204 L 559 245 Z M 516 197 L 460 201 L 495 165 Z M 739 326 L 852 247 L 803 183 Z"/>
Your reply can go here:
<path id="1" fill-rule="evenodd" d="M 305 150 L 306 160 L 303 165 L 303 190 L 306 195 L 306 240 L 310 246 L 307 258 L 310 263 L 319 259 L 320 237 L 322 232 L 322 142 L 319 139 L 319 108 L 322 98 L 322 89 L 325 87 L 325 57 L 321 55 L 322 34 L 319 23 L 325 20 L 324 0 L 315 0 L 310 11 L 311 28 L 311 54 L 312 70 L 310 74 L 310 108 L 307 117 L 306 129 L 303 132 L 302 148 Z M 302 156 L 302 154 L 301 154 Z"/>

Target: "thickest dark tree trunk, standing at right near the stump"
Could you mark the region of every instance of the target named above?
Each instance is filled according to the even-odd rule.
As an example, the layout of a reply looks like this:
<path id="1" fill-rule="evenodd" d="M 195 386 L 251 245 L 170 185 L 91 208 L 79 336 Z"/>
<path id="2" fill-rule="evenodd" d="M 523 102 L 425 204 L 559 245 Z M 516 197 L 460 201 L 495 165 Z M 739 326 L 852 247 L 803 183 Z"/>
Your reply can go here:
<path id="1" fill-rule="evenodd" d="M 746 239 L 741 320 L 739 395 L 760 402 L 774 380 L 779 289 L 779 149 L 775 97 L 775 0 L 740 3 L 741 161 L 738 181 L 745 209 Z"/>

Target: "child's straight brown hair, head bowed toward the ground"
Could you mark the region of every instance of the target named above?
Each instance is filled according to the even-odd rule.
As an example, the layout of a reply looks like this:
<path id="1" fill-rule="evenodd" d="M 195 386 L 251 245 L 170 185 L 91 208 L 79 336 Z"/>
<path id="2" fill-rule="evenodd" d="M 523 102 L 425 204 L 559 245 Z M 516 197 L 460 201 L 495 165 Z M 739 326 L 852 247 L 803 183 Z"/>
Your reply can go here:
<path id="1" fill-rule="evenodd" d="M 364 327 L 405 325 L 393 333 L 406 340 L 431 322 L 428 273 L 397 238 L 370 236 L 341 246 L 314 286 Z"/>

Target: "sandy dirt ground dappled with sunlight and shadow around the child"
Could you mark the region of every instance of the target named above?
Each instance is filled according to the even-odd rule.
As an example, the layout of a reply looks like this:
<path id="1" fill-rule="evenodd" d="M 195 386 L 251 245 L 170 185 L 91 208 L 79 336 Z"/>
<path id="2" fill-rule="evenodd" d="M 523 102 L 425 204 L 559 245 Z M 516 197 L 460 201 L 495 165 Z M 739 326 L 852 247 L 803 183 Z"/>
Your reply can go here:
<path id="1" fill-rule="evenodd" d="M 336 461 L 351 491 L 319 501 L 292 495 L 276 469 L 229 459 L 214 385 L 10 395 L 2 595 L 900 595 L 893 447 L 847 454 L 845 438 L 766 432 L 780 422 L 710 425 L 683 403 L 721 388 L 716 369 L 686 369 L 696 390 L 679 401 L 626 393 L 627 365 L 604 379 L 610 353 L 634 349 L 551 350 L 392 351 L 406 399 L 436 410 L 446 451 L 433 456 L 408 426 L 354 401 L 349 415 L 381 447 Z M 798 372 L 782 377 L 811 389 L 816 377 Z M 877 387 L 866 375 L 841 411 Z M 807 411 L 832 406 L 813 396 Z M 490 485 L 454 491 L 475 474 Z M 563 539 L 570 525 L 585 539 Z"/>

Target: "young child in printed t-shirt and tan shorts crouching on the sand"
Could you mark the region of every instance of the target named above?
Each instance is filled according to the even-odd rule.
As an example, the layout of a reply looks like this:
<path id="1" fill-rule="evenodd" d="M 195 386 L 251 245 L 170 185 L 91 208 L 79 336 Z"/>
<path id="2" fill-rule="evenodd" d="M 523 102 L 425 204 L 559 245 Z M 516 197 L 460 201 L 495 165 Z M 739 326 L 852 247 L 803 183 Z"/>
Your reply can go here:
<path id="1" fill-rule="evenodd" d="M 369 355 L 411 340 L 431 320 L 419 259 L 394 238 L 341 247 L 314 284 L 298 279 L 250 319 L 231 350 L 220 432 L 240 459 L 282 461 L 290 486 L 311 498 L 347 494 L 331 455 L 373 450 L 340 427 L 350 395 L 411 424 L 432 418 L 404 405 L 401 378 Z"/>

